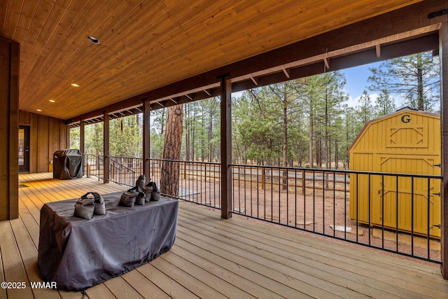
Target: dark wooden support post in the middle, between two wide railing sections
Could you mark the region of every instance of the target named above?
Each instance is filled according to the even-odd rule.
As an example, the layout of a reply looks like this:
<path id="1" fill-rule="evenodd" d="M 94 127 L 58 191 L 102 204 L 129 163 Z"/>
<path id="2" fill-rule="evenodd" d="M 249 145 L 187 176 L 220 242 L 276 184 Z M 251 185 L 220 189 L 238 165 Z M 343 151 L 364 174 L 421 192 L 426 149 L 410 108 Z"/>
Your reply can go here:
<path id="1" fill-rule="evenodd" d="M 232 83 L 221 78 L 221 218 L 232 217 Z"/>

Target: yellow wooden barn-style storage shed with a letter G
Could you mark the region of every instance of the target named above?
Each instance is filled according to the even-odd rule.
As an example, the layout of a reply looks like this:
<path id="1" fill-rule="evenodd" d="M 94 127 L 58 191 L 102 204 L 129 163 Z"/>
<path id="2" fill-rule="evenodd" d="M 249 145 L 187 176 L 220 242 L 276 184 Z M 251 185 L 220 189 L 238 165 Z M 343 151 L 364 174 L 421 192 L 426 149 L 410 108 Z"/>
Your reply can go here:
<path id="1" fill-rule="evenodd" d="M 440 175 L 440 116 L 405 108 L 371 120 L 349 153 L 351 170 Z M 440 180 L 351 174 L 350 218 L 440 238 Z"/>

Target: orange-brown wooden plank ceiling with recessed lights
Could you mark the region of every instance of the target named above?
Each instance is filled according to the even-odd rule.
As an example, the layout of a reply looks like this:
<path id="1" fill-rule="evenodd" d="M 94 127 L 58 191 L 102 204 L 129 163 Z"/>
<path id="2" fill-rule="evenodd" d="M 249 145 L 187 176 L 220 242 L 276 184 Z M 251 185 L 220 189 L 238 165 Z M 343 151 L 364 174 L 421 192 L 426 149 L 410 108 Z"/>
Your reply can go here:
<path id="1" fill-rule="evenodd" d="M 66 120 L 416 2 L 2 0 L 0 36 L 21 45 L 20 109 Z"/>

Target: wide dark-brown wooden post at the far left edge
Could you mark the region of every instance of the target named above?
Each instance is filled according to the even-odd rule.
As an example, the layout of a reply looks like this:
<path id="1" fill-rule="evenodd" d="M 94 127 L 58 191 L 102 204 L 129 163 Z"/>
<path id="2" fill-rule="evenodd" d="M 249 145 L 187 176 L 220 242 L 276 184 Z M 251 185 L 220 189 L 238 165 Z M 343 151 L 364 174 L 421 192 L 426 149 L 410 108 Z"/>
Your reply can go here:
<path id="1" fill-rule="evenodd" d="M 19 217 L 20 45 L 0 37 L 0 221 Z"/>

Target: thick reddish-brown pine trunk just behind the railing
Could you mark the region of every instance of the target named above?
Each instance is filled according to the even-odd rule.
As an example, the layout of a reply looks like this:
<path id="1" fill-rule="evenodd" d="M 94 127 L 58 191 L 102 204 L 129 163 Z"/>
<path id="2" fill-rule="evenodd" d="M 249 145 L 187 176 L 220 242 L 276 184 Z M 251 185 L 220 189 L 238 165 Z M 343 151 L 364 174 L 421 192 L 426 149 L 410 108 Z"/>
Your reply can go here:
<path id="1" fill-rule="evenodd" d="M 180 160 L 182 147 L 183 104 L 168 108 L 163 160 Z M 160 173 L 160 192 L 179 196 L 179 162 L 163 161 Z"/>

